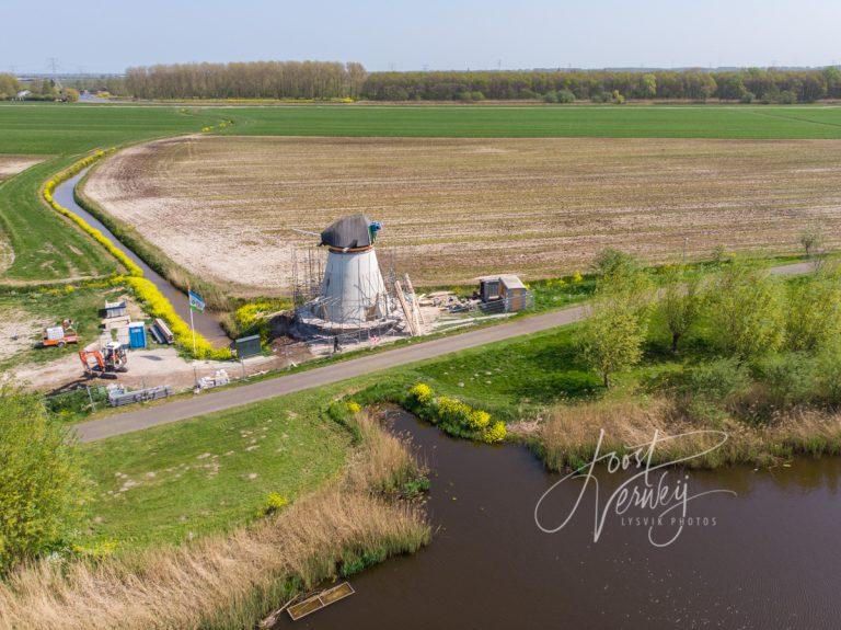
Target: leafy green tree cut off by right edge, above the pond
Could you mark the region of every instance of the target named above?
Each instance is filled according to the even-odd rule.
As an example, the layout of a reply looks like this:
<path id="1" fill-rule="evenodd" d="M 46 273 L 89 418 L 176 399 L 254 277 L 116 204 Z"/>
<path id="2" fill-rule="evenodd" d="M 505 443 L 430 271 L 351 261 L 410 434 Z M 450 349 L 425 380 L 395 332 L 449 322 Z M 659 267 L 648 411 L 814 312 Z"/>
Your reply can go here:
<path id="1" fill-rule="evenodd" d="M 794 351 L 823 352 L 841 340 L 841 267 L 822 265 L 788 296 L 786 339 Z"/>

